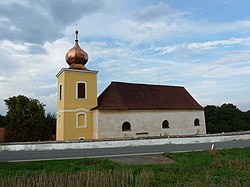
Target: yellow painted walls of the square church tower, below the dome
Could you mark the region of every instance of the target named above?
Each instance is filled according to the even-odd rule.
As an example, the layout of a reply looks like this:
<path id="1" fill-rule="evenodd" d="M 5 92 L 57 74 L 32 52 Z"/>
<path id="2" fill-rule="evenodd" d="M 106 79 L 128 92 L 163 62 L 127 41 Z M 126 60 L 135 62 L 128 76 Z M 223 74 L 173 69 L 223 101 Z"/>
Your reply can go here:
<path id="1" fill-rule="evenodd" d="M 93 139 L 93 112 L 89 110 L 97 106 L 96 75 L 96 71 L 72 69 L 62 69 L 57 74 L 58 104 L 56 140 L 79 140 L 81 137 Z M 80 81 L 86 84 L 86 99 L 77 99 L 76 86 L 77 82 Z M 59 98 L 60 85 L 62 85 L 61 100 Z M 85 127 L 77 127 L 78 114 L 84 114 L 86 118 Z M 61 125 L 59 124 L 60 121 Z"/>

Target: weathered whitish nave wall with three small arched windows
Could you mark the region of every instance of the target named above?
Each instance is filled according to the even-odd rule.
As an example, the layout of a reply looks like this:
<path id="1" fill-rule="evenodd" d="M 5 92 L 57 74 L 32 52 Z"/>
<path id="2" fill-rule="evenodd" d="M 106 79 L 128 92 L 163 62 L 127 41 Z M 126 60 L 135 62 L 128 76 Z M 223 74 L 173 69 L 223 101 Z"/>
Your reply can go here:
<path id="1" fill-rule="evenodd" d="M 99 110 L 98 138 L 206 134 L 203 110 Z M 194 120 L 199 119 L 199 126 Z M 162 128 L 167 120 L 169 128 Z M 124 122 L 130 131 L 122 131 Z"/>

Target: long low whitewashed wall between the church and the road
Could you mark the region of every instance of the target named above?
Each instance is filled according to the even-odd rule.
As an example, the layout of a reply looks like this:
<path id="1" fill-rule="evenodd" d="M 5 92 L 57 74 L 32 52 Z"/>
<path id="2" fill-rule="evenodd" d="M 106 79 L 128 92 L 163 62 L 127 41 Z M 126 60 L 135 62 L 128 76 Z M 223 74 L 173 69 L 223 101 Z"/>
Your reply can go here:
<path id="1" fill-rule="evenodd" d="M 164 145 L 164 144 L 195 144 L 212 143 L 235 140 L 250 140 L 250 133 L 240 135 L 211 135 L 202 137 L 170 137 L 133 140 L 105 140 L 105 141 L 69 141 L 69 142 L 32 142 L 32 143 L 4 143 L 0 144 L 0 151 L 43 151 L 64 149 L 94 149 L 127 147 L 142 145 Z"/>

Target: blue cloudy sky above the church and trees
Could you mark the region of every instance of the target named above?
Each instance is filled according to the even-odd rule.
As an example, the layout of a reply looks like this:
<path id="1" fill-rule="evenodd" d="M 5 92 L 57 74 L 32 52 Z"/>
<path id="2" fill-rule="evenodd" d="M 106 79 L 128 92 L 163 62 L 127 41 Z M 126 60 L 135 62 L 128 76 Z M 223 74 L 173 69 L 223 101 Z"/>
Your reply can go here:
<path id="1" fill-rule="evenodd" d="M 56 112 L 76 29 L 98 94 L 111 81 L 183 86 L 202 106 L 250 110 L 250 1 L 1 0 L 0 114 L 20 94 Z"/>

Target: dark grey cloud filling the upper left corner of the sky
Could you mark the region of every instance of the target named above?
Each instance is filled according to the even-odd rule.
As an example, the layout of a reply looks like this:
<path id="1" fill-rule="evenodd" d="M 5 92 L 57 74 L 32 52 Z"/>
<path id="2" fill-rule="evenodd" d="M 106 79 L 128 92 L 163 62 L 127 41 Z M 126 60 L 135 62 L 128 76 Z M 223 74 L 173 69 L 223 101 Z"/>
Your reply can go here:
<path id="1" fill-rule="evenodd" d="M 101 8 L 103 1 L 26 1 L 0 4 L 0 40 L 42 45 L 63 36 L 67 25 Z M 34 52 L 34 51 L 33 51 Z"/>

